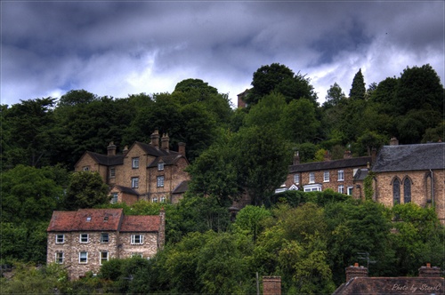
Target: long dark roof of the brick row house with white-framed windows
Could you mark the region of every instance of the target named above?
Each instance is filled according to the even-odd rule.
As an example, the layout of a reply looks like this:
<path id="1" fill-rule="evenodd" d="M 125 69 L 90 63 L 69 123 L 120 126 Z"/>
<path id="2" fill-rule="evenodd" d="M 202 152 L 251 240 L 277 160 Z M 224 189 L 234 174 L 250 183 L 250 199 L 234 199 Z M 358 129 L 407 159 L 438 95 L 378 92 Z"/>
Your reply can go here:
<path id="1" fill-rule="evenodd" d="M 352 168 L 352 167 L 360 167 L 367 166 L 368 163 L 371 163 L 371 156 L 360 156 L 356 158 L 349 159 L 340 159 L 333 161 L 324 161 L 324 162 L 313 162 L 313 163 L 299 163 L 296 165 L 289 166 L 289 172 L 305 172 L 305 171 L 323 171 L 330 169 L 339 169 L 339 168 Z"/>

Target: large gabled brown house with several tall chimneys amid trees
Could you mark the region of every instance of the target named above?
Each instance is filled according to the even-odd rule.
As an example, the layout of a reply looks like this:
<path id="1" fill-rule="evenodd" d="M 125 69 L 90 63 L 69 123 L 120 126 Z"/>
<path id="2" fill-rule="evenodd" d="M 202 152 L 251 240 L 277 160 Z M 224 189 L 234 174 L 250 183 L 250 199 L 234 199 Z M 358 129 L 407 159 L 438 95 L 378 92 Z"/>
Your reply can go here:
<path id="1" fill-rule="evenodd" d="M 136 141 L 117 155 L 111 142 L 108 154 L 86 151 L 77 161 L 75 171 L 97 171 L 110 187 L 112 202 L 132 204 L 138 200 L 177 203 L 185 192 L 189 165 L 185 156 L 185 143 L 178 144 L 179 151 L 170 150 L 165 134 L 159 147 L 158 131 L 151 134 L 150 144 Z"/>

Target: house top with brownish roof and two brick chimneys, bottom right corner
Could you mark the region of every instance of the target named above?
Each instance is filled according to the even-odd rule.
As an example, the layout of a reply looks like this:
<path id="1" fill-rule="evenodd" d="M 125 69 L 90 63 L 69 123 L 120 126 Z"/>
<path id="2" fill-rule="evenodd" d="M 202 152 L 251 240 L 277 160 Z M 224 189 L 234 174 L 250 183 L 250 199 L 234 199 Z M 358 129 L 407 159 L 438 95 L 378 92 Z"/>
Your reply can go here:
<path id="1" fill-rule="evenodd" d="M 369 277 L 368 268 L 358 263 L 346 267 L 346 283 L 333 294 L 443 294 L 445 281 L 441 268 L 420 267 L 417 277 Z"/>

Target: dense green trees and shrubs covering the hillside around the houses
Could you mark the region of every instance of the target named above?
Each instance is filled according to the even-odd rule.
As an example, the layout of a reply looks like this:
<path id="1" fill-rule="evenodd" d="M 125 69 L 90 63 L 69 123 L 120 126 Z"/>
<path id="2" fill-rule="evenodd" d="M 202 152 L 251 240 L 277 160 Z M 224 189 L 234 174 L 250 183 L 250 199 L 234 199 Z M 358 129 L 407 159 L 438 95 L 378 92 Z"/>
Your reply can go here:
<path id="1" fill-rule="evenodd" d="M 344 267 L 370 275 L 416 275 L 426 262 L 445 267 L 442 227 L 431 208 L 392 209 L 331 190 L 274 195 L 292 152 L 303 163 L 326 151 L 369 155 L 396 137 L 402 144 L 443 141 L 443 86 L 429 65 L 405 68 L 365 88 L 359 71 L 349 97 L 338 84 L 320 107 L 311 80 L 277 63 L 259 68 L 248 107 L 232 109 L 227 94 L 199 79 L 172 93 L 98 97 L 72 90 L 54 98 L 1 106 L 2 264 L 13 264 L 4 293 L 255 293 L 255 273 L 281 275 L 292 293 L 329 293 Z M 106 154 L 150 141 L 158 129 L 171 148 L 187 144 L 190 190 L 178 204 L 109 204 L 94 173 L 72 173 L 90 150 Z M 233 201 L 252 205 L 232 220 Z M 166 248 L 150 259 L 111 259 L 98 276 L 67 281 L 45 262 L 46 228 L 54 210 L 123 208 L 125 214 L 166 210 Z M 361 253 L 361 254 L 360 254 Z M 367 260 L 363 259 L 367 254 Z M 24 264 L 27 263 L 27 264 Z M 56 289 L 57 288 L 57 289 Z"/>

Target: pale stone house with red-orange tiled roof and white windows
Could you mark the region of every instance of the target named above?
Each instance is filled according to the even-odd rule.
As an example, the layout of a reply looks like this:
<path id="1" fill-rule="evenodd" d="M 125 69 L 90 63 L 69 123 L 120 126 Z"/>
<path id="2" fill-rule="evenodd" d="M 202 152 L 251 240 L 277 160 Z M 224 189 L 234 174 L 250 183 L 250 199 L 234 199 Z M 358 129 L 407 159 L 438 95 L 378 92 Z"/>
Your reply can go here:
<path id="1" fill-rule="evenodd" d="M 71 279 L 97 273 L 104 261 L 149 259 L 165 244 L 165 211 L 125 216 L 122 209 L 53 211 L 47 228 L 47 263 L 66 267 Z"/>

